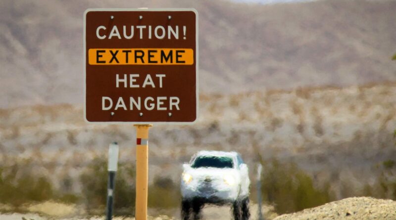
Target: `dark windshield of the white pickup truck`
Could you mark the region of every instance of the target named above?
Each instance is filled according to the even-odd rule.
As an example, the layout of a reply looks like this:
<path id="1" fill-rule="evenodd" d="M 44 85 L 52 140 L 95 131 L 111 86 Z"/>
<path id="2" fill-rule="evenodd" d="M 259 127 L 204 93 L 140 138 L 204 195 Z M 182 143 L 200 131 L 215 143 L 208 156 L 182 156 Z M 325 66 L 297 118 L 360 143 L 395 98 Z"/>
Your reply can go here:
<path id="1" fill-rule="evenodd" d="M 234 163 L 230 157 L 198 156 L 191 167 L 233 168 Z"/>

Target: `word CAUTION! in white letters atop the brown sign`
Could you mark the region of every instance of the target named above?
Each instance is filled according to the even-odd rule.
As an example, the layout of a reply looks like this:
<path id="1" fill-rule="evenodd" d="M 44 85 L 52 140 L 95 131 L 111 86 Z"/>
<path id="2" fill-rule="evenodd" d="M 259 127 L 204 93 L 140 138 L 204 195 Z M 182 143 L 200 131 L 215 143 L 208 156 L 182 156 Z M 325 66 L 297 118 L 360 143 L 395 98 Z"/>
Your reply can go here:
<path id="1" fill-rule="evenodd" d="M 114 25 L 110 27 L 111 31 L 108 35 L 106 35 L 106 26 L 99 26 L 96 29 L 96 37 L 100 40 L 103 39 L 143 39 L 143 38 L 156 38 L 156 39 L 179 39 L 179 26 L 151 26 L 151 25 L 137 25 L 137 26 L 126 26 L 122 27 Z M 183 39 L 186 40 L 186 26 L 183 26 Z"/>

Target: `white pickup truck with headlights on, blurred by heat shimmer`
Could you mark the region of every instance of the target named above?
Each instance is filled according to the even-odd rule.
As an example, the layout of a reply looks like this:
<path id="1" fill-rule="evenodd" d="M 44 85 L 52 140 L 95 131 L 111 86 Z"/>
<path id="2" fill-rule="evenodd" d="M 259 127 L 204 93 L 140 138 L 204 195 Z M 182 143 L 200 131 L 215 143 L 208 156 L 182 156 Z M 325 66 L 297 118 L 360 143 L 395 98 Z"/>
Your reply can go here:
<path id="1" fill-rule="evenodd" d="M 249 218 L 249 175 L 237 152 L 199 151 L 183 165 L 182 220 L 200 218 L 204 204 L 232 205 L 235 220 Z"/>

